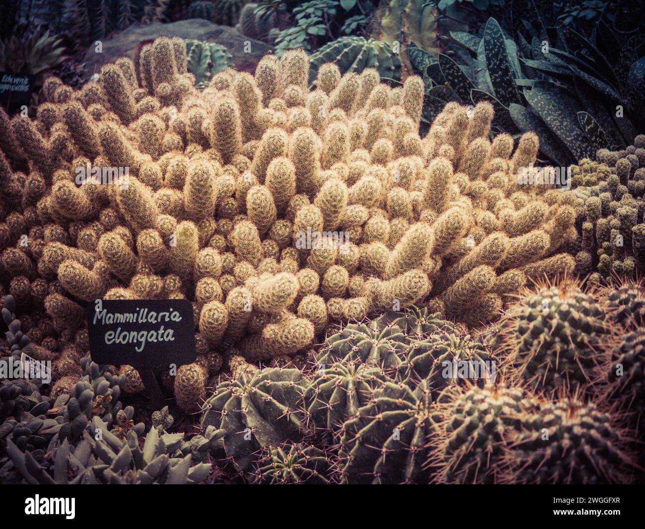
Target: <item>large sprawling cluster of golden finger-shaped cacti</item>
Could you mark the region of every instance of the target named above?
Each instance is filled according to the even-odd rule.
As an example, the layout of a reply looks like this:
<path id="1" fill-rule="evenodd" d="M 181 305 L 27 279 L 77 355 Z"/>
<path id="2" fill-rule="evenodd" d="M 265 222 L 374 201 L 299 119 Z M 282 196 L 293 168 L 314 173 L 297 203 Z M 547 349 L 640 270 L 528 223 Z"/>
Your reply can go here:
<path id="1" fill-rule="evenodd" d="M 45 309 L 72 329 L 80 302 L 189 298 L 206 351 L 267 361 L 329 321 L 426 299 L 485 322 L 528 277 L 573 269 L 570 199 L 517 184 L 535 134 L 513 152 L 487 139 L 490 104 L 450 103 L 421 138 L 421 78 L 391 88 L 328 64 L 310 90 L 308 76 L 292 50 L 198 92 L 183 41 L 161 37 L 141 83 L 127 58 L 81 90 L 48 79 L 35 120 L 0 112 L 0 182 L 22 207 L 0 227 L 6 271 L 57 281 Z M 78 167 L 128 180 L 77 185 Z"/>

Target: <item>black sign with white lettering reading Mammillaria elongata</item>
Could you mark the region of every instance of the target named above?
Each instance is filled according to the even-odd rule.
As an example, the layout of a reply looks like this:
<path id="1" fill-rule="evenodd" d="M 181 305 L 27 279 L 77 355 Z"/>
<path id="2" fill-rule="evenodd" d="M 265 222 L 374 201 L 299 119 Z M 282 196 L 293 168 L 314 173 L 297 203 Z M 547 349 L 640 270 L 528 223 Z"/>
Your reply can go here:
<path id="1" fill-rule="evenodd" d="M 135 369 L 195 361 L 188 300 L 95 300 L 87 307 L 90 356 L 97 364 Z"/>

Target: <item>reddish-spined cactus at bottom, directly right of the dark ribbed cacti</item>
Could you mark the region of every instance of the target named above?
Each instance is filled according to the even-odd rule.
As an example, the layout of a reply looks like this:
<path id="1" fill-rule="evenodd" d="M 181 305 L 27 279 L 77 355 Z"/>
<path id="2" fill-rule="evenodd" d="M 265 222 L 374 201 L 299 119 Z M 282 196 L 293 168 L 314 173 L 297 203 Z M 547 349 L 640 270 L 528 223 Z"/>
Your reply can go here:
<path id="1" fill-rule="evenodd" d="M 452 394 L 451 394 L 452 393 Z M 519 388 L 488 386 L 448 392 L 437 412 L 437 436 L 428 464 L 433 482 L 492 484 L 502 481 L 508 441 L 533 410 Z"/>

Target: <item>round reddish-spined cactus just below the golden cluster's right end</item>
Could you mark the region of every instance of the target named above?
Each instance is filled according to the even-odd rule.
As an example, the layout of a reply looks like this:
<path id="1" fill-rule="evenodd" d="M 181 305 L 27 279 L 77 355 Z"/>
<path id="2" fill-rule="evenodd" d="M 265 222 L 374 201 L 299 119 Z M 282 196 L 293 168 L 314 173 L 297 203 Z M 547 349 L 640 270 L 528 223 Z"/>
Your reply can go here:
<path id="1" fill-rule="evenodd" d="M 495 341 L 520 379 L 553 391 L 590 382 L 609 337 L 603 304 L 575 282 L 563 281 L 511 306 Z"/>

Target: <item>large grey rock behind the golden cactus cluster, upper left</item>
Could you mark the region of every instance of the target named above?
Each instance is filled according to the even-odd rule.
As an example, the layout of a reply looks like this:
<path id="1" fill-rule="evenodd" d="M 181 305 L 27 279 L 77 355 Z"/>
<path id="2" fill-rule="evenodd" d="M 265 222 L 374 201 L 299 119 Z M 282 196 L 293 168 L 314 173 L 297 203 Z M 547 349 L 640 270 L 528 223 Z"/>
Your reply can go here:
<path id="1" fill-rule="evenodd" d="M 85 78 L 89 79 L 95 72 L 100 72 L 103 65 L 112 63 L 119 57 L 130 57 L 138 67 L 141 47 L 161 36 L 197 39 L 226 46 L 233 57 L 233 66 L 251 74 L 255 73 L 260 59 L 272 52 L 270 46 L 244 36 L 235 28 L 219 26 L 204 19 L 180 20 L 170 24 L 157 22 L 146 26 L 134 24 L 114 37 L 102 41 L 103 53 L 96 53 L 94 44 L 88 48 L 83 59 Z"/>

